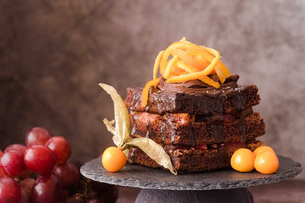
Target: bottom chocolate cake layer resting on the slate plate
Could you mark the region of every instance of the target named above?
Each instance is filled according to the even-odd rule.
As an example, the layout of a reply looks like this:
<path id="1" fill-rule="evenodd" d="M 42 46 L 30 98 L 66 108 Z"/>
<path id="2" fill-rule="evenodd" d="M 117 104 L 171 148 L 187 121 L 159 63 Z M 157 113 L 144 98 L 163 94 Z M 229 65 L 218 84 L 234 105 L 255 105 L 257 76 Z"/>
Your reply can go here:
<path id="1" fill-rule="evenodd" d="M 253 151 L 263 145 L 265 145 L 264 142 L 255 141 L 249 144 L 241 142 L 223 144 L 216 149 L 174 149 L 171 145 L 164 145 L 164 148 L 172 159 L 173 168 L 178 173 L 194 173 L 229 168 L 230 158 L 237 149 L 246 147 Z M 130 150 L 128 162 L 130 164 L 140 164 L 152 168 L 162 168 L 137 147 L 133 147 Z"/>

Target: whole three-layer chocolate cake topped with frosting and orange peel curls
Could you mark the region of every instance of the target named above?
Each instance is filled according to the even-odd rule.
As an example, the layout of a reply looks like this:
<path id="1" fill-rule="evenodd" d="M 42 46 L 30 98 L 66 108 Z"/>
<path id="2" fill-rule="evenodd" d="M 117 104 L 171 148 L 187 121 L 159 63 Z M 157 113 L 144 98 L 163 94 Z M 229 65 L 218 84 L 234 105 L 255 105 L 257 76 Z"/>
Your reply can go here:
<path id="1" fill-rule="evenodd" d="M 190 44 L 186 40 L 178 43 Z M 148 137 L 162 145 L 178 173 L 229 168 L 230 157 L 237 149 L 248 148 L 253 151 L 265 145 L 256 140 L 266 132 L 264 119 L 252 109 L 260 102 L 258 88 L 252 84 L 238 85 L 239 75 L 229 74 L 220 60 L 210 68 L 217 57 L 217 54 L 210 53 L 214 51 L 210 51 L 210 48 L 195 47 L 210 57 L 210 64 L 198 69 L 194 62 L 176 51 L 191 52 L 182 45 L 168 48 L 172 49 L 168 52 L 173 55 L 171 59 L 166 56 L 166 62 L 162 62 L 162 54 L 168 49 L 160 52 L 157 57 L 160 61 L 156 60 L 155 64 L 155 67 L 160 66 L 160 78 L 154 77 L 145 88 L 127 89 L 124 102 L 130 110 L 130 137 Z M 192 50 L 194 46 L 197 45 L 193 45 Z M 199 55 L 205 54 L 200 51 L 197 51 Z M 177 54 L 179 57 L 175 57 L 175 52 L 180 53 Z M 197 64 L 204 65 L 202 56 L 191 55 L 191 58 L 196 59 L 199 62 Z M 188 67 L 177 63 L 177 60 L 189 62 Z M 163 69 L 162 63 L 166 66 Z M 198 79 L 186 77 L 175 80 L 177 76 L 194 73 L 194 70 L 188 69 L 190 67 L 197 68 L 196 73 L 207 68 L 211 70 L 206 71 L 206 75 L 199 75 Z M 175 72 L 169 69 L 175 69 Z M 182 74 L 178 75 L 177 72 Z M 170 79 L 174 79 L 174 82 L 168 82 Z M 128 161 L 131 164 L 162 168 L 137 147 L 129 151 Z"/>

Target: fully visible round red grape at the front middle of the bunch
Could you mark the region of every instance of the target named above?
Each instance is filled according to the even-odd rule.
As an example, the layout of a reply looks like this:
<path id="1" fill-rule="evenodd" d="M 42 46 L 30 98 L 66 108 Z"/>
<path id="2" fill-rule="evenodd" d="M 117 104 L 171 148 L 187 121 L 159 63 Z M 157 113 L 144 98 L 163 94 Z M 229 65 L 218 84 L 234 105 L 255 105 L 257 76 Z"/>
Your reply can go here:
<path id="1" fill-rule="evenodd" d="M 45 145 L 32 145 L 24 153 L 25 165 L 36 173 L 50 172 L 56 163 L 54 153 Z"/>

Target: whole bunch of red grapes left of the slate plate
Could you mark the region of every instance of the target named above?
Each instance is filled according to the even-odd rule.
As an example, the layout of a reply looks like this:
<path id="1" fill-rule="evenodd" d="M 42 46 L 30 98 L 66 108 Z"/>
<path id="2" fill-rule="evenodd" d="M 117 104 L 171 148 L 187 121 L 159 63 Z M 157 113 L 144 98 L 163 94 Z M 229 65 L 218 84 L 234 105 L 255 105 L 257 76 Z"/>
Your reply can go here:
<path id="1" fill-rule="evenodd" d="M 118 188 L 82 176 L 81 163 L 71 154 L 65 137 L 30 129 L 25 145 L 0 150 L 0 202 L 115 203 Z"/>

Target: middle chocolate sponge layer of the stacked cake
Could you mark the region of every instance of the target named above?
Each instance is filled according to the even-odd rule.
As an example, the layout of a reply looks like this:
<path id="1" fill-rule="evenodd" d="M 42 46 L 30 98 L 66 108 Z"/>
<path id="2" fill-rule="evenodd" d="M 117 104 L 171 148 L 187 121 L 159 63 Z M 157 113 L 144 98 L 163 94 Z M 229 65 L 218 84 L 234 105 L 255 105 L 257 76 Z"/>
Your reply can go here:
<path id="1" fill-rule="evenodd" d="M 197 121 L 203 122 L 197 122 Z M 214 143 L 231 143 L 255 139 L 266 133 L 260 114 L 245 111 L 196 118 L 190 114 L 166 114 L 160 116 L 147 112 L 130 114 L 131 136 L 148 137 L 157 143 L 181 146 L 197 146 Z"/>

